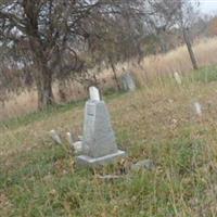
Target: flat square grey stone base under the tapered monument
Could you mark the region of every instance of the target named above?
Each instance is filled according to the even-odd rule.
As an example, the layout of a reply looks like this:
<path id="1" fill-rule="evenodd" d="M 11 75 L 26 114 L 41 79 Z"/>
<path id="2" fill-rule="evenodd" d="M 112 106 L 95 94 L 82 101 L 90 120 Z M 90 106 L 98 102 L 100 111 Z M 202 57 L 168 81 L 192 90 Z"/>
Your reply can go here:
<path id="1" fill-rule="evenodd" d="M 126 156 L 126 152 L 120 151 L 120 150 L 118 150 L 114 154 L 108 154 L 108 155 L 95 157 L 95 158 L 87 156 L 87 155 L 80 155 L 77 157 L 77 164 L 78 166 L 97 167 L 99 165 L 106 165 L 124 156 Z"/>

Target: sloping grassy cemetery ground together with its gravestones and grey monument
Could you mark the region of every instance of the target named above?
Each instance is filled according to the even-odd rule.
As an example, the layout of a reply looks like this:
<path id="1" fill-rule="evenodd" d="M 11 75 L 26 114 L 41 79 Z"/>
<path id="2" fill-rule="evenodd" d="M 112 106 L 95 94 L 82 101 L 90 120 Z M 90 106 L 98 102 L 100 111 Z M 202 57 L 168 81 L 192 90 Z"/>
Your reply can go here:
<path id="1" fill-rule="evenodd" d="M 187 78 L 110 99 L 91 87 L 76 106 L 1 126 L 3 216 L 166 216 L 180 195 L 212 205 L 217 87 Z"/>

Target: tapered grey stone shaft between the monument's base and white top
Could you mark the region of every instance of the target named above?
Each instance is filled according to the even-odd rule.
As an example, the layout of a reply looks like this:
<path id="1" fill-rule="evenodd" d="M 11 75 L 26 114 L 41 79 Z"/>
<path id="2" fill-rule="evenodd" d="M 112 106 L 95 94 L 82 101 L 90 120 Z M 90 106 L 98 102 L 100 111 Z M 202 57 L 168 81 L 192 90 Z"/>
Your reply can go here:
<path id="1" fill-rule="evenodd" d="M 88 101 L 85 110 L 84 155 L 98 158 L 117 152 L 110 114 L 103 101 Z"/>

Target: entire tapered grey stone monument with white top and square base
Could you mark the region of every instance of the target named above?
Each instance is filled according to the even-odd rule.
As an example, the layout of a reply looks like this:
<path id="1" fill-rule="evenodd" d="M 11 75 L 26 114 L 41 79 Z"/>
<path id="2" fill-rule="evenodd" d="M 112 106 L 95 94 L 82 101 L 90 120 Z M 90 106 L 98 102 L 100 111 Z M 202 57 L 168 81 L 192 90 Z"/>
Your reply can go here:
<path id="1" fill-rule="evenodd" d="M 80 166 L 98 166 L 112 163 L 125 152 L 117 149 L 110 114 L 99 90 L 90 88 L 90 100 L 85 107 L 82 155 L 77 157 Z"/>

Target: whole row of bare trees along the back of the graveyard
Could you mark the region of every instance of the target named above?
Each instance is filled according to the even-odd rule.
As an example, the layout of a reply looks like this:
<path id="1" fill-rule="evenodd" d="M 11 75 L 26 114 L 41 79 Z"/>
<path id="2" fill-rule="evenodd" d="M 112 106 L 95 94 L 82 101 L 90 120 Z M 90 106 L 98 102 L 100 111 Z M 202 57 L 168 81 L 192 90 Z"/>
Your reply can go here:
<path id="1" fill-rule="evenodd" d="M 89 68 L 102 64 L 115 75 L 117 62 L 139 63 L 149 39 L 164 40 L 165 33 L 181 33 L 196 69 L 190 37 L 196 18 L 189 0 L 0 0 L 1 95 L 36 87 L 42 110 L 54 103 L 55 80 L 89 86 Z"/>

